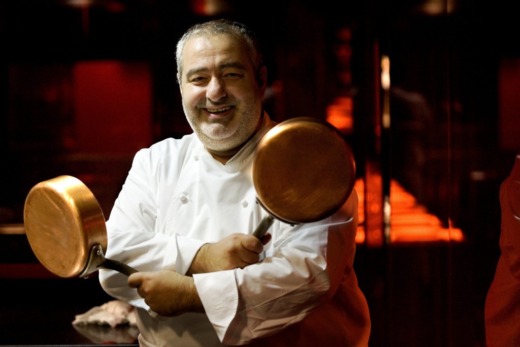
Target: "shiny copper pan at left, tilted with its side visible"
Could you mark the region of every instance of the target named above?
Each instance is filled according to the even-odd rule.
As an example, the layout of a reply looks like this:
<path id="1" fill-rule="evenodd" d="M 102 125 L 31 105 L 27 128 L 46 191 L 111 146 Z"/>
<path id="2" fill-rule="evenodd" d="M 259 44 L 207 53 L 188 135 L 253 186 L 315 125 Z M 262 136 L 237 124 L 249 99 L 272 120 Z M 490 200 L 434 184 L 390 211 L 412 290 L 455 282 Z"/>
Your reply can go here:
<path id="1" fill-rule="evenodd" d="M 137 272 L 105 258 L 105 216 L 79 179 L 59 176 L 36 184 L 25 198 L 25 234 L 40 261 L 60 277 L 86 277 L 100 268 L 127 276 Z"/>

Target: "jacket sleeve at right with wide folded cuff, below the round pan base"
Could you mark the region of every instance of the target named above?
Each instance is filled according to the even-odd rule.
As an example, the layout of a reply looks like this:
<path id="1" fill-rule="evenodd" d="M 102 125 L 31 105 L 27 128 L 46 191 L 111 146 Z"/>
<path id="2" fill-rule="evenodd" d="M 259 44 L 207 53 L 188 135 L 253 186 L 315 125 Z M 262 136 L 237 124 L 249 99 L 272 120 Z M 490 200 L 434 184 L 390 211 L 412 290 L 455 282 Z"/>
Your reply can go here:
<path id="1" fill-rule="evenodd" d="M 357 222 L 353 191 L 324 221 L 295 227 L 275 222 L 262 262 L 193 275 L 220 340 L 238 345 L 270 336 L 330 300 L 344 273 L 353 271 Z"/>

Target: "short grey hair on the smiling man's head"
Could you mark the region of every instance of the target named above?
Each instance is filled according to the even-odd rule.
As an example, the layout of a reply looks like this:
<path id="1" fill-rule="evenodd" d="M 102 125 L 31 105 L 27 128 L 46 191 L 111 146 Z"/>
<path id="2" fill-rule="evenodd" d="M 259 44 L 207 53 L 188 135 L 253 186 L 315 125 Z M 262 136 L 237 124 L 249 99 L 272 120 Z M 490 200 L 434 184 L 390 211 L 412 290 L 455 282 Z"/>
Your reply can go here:
<path id="1" fill-rule="evenodd" d="M 195 24 L 184 33 L 183 37 L 181 37 L 177 42 L 176 49 L 177 72 L 179 78 L 183 73 L 183 49 L 186 43 L 193 37 L 212 35 L 233 36 L 238 40 L 242 40 L 249 50 L 249 55 L 251 57 L 258 84 L 265 82 L 261 80 L 259 75 L 259 71 L 264 65 L 264 62 L 256 35 L 244 24 L 227 19 L 218 19 L 201 24 Z"/>

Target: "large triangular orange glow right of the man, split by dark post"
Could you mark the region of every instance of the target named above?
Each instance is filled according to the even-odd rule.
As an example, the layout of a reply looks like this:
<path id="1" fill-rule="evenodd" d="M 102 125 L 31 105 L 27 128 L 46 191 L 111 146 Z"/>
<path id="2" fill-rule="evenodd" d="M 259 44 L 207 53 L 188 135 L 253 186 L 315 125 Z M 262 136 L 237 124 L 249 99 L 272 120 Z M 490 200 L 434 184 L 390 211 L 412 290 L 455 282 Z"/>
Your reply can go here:
<path id="1" fill-rule="evenodd" d="M 365 199 L 364 182 L 357 179 L 355 189 L 359 197 L 359 226 L 356 234 L 356 242 L 365 242 Z M 464 240 L 462 230 L 459 228 L 443 227 L 440 220 L 406 191 L 398 182 L 392 181 L 390 186 L 391 215 L 391 243 L 405 242 L 434 242 Z M 372 207 L 371 207 L 372 209 Z M 381 208 L 380 208 L 381 209 Z M 449 222 L 451 224 L 451 221 Z M 382 230 L 380 237 L 382 237 Z"/>

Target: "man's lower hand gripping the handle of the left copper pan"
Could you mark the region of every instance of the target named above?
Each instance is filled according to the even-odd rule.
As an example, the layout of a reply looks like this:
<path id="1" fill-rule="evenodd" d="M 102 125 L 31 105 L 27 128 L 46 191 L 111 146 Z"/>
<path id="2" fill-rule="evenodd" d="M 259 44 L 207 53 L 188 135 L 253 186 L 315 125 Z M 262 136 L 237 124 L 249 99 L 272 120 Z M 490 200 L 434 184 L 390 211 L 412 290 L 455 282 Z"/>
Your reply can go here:
<path id="1" fill-rule="evenodd" d="M 166 270 L 137 272 L 128 276 L 128 286 L 137 288 L 150 309 L 162 316 L 204 312 L 192 277 Z"/>

